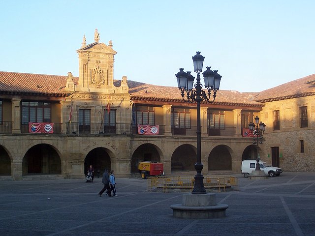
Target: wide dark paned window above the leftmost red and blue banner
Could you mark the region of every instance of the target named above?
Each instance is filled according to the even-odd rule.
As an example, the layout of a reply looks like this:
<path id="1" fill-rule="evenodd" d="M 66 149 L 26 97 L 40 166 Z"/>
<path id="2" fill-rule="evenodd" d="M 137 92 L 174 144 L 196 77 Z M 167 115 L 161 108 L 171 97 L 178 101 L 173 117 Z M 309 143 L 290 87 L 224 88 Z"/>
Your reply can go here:
<path id="1" fill-rule="evenodd" d="M 51 103 L 22 102 L 22 124 L 28 122 L 51 122 Z"/>

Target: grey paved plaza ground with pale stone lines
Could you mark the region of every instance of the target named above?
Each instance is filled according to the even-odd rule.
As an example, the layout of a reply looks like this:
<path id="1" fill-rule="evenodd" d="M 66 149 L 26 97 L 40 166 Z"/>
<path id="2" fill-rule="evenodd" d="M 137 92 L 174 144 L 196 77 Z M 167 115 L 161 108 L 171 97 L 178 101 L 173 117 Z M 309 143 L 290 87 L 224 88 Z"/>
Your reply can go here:
<path id="1" fill-rule="evenodd" d="M 0 236 L 315 236 L 315 173 L 284 172 L 217 193 L 220 219 L 177 219 L 183 193 L 147 191 L 147 180 L 117 178 L 117 197 L 97 193 L 101 178 L 0 181 Z"/>

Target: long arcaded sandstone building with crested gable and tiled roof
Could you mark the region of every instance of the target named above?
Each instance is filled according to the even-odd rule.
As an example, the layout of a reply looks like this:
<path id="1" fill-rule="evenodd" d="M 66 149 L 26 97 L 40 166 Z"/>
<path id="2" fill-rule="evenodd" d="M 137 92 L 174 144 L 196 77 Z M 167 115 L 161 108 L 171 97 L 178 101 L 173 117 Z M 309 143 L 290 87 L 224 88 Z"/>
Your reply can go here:
<path id="1" fill-rule="evenodd" d="M 143 160 L 162 162 L 166 175 L 194 171 L 196 105 L 178 88 L 114 80 L 111 41 L 86 45 L 84 37 L 77 53 L 79 77 L 0 72 L 0 178 L 83 178 L 90 165 L 96 175 L 108 168 L 130 177 Z M 255 159 L 246 135 L 255 116 L 267 125 L 262 159 L 315 171 L 314 80 L 260 93 L 219 90 L 213 104 L 202 103 L 203 173 L 240 173 L 242 160 Z"/>

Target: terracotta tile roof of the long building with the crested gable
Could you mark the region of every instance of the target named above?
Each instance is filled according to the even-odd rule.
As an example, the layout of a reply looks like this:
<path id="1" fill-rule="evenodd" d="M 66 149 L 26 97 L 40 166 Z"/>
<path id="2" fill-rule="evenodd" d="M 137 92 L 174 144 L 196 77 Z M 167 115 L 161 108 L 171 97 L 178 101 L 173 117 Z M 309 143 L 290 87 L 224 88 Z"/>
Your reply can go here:
<path id="1" fill-rule="evenodd" d="M 66 94 L 64 90 L 66 80 L 67 76 L 0 72 L 0 91 Z M 77 84 L 78 77 L 73 77 L 73 80 Z M 182 101 L 181 93 L 177 87 L 150 85 L 136 81 L 127 81 L 127 83 L 133 100 Z M 121 81 L 115 80 L 114 85 L 119 87 Z M 254 101 L 255 95 L 257 93 L 219 90 L 215 103 L 261 106 L 261 103 Z"/>

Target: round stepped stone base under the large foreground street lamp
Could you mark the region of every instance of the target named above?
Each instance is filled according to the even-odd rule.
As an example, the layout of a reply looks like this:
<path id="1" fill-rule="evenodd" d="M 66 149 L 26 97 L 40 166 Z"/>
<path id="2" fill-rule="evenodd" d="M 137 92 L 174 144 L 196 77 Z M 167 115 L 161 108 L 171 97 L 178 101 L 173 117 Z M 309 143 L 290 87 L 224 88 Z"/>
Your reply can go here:
<path id="1" fill-rule="evenodd" d="M 210 219 L 225 217 L 226 204 L 217 204 L 214 193 L 184 194 L 183 204 L 172 205 L 173 216 L 186 219 Z"/>

